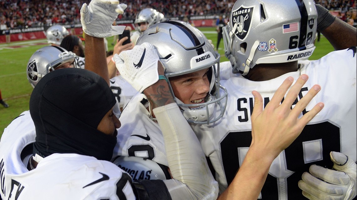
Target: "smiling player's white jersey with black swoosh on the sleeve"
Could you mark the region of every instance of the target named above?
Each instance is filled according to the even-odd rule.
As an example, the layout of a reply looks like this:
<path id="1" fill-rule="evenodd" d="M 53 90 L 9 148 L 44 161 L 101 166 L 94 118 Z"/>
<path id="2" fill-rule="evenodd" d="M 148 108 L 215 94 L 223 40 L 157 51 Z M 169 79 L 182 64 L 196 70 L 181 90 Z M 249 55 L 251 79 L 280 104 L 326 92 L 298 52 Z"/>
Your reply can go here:
<path id="1" fill-rule="evenodd" d="M 168 166 L 160 126 L 148 117 L 149 111 L 140 102 L 143 98 L 143 94 L 137 93 L 120 115 L 114 157 L 142 157 Z"/>

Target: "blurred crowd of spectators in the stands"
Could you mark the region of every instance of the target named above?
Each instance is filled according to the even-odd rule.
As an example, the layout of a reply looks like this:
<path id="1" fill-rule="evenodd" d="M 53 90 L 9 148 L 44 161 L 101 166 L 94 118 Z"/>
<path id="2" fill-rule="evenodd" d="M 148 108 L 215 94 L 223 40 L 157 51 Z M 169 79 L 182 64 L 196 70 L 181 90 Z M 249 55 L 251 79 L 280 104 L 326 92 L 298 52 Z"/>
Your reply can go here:
<path id="1" fill-rule="evenodd" d="M 34 25 L 50 25 L 53 23 L 80 23 L 80 7 L 84 0 L 3 0 L 0 1 L 0 24 L 10 28 L 31 27 Z M 234 0 L 136 0 L 122 1 L 128 7 L 121 20 L 132 20 L 140 10 L 153 7 L 162 12 L 166 18 L 176 17 L 182 20 L 185 16 L 203 16 L 228 14 Z M 356 23 L 355 0 L 316 0 L 329 10 L 341 10 L 343 21 L 353 19 Z"/>

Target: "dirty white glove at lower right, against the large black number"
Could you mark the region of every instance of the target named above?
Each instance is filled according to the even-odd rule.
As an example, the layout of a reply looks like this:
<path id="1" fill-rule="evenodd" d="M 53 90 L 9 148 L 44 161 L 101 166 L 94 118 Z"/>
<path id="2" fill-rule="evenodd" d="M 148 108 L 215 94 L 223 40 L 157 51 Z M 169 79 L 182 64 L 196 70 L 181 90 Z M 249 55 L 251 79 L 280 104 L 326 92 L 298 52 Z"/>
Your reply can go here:
<path id="1" fill-rule="evenodd" d="M 310 200 L 351 200 L 356 197 L 357 165 L 345 154 L 330 153 L 333 169 L 310 166 L 299 181 L 302 194 Z"/>

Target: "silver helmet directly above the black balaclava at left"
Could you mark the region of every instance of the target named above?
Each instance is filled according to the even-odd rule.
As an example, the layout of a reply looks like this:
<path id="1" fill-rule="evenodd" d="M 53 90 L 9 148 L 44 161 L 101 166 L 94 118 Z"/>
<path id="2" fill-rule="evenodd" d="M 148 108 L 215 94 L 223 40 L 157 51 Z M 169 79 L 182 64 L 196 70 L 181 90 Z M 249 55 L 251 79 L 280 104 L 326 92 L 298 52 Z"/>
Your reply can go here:
<path id="1" fill-rule="evenodd" d="M 56 69 L 63 63 L 73 63 L 76 66 L 75 53 L 69 52 L 59 46 L 45 46 L 32 54 L 27 63 L 27 79 L 31 86 L 35 88 L 39 80 L 47 73 Z"/>

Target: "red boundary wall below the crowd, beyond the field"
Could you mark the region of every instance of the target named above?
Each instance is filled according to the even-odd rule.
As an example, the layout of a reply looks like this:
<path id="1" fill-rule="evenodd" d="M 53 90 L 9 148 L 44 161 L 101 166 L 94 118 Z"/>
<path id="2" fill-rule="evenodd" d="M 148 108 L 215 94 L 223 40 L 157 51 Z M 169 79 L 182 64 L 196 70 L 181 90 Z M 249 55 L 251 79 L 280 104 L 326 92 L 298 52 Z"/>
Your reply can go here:
<path id="1" fill-rule="evenodd" d="M 191 17 L 191 24 L 196 27 L 207 27 L 207 26 L 216 26 L 215 16 L 198 16 Z M 178 19 L 171 19 L 178 20 Z M 131 26 L 134 30 L 133 20 L 121 20 L 117 21 L 117 25 Z M 67 30 L 72 35 L 82 35 L 82 25 L 64 25 Z M 10 40 L 14 41 L 25 41 L 25 40 L 35 40 L 35 39 L 44 39 L 46 38 L 45 31 L 49 26 L 39 26 L 39 27 L 28 27 L 28 28 L 17 28 L 10 30 Z M 0 30 L 0 43 L 5 43 L 5 30 Z"/>

